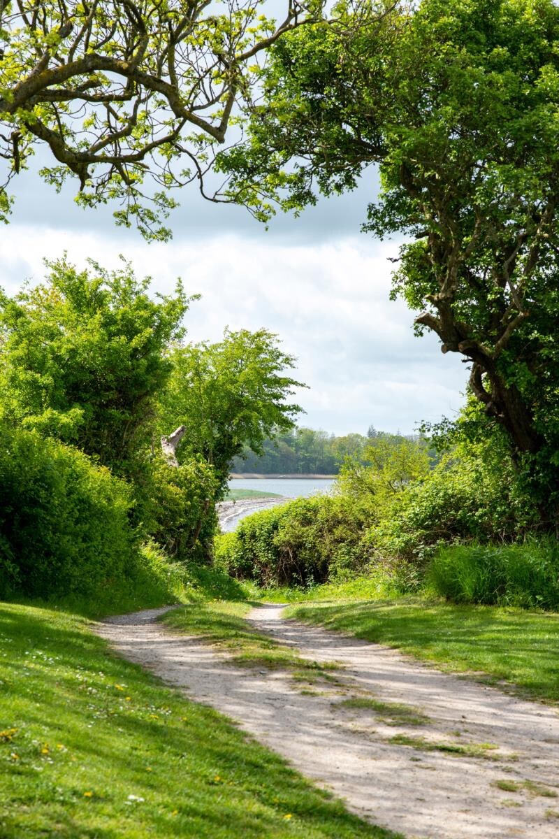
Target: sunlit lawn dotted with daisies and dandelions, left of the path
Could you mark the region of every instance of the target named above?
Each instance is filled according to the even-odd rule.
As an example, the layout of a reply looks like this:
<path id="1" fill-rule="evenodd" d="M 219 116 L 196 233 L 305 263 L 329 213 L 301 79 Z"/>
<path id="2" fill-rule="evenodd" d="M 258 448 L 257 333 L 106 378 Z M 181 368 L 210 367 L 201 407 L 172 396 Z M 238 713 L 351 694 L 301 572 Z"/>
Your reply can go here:
<path id="1" fill-rule="evenodd" d="M 111 654 L 85 618 L 1 605 L 0 656 L 3 839 L 394 836 Z"/>

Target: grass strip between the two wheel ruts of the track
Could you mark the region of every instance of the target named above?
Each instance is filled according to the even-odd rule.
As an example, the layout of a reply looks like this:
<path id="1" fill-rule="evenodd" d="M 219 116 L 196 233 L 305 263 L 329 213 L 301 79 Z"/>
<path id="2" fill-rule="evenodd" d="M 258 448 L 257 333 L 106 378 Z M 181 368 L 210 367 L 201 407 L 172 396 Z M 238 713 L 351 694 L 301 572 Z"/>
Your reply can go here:
<path id="1" fill-rule="evenodd" d="M 224 650 L 230 654 L 231 664 L 287 670 L 297 680 L 303 681 L 328 679 L 328 671 L 337 669 L 339 665 L 335 662 L 318 664 L 303 659 L 296 650 L 279 644 L 271 636 L 251 626 L 243 618 L 253 605 L 250 602 L 227 601 L 195 603 L 168 612 L 163 616 L 163 622 Z"/>

